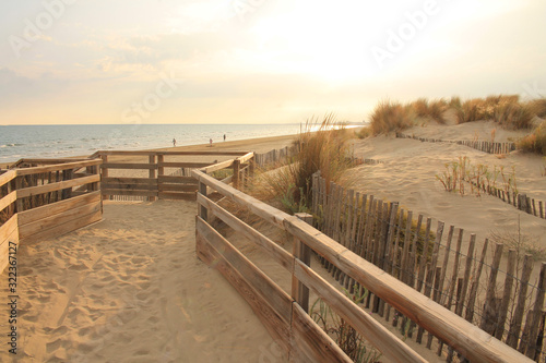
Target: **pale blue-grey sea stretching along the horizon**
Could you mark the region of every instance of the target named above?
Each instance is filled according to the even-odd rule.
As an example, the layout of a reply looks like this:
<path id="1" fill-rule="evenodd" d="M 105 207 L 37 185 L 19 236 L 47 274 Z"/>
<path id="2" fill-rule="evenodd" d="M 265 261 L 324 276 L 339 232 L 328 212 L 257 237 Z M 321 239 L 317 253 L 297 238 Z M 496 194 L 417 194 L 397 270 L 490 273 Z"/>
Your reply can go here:
<path id="1" fill-rule="evenodd" d="M 88 156 L 96 150 L 135 150 L 295 135 L 287 124 L 72 124 L 0 125 L 0 164 L 21 158 Z M 304 125 L 305 128 L 305 125 Z"/>

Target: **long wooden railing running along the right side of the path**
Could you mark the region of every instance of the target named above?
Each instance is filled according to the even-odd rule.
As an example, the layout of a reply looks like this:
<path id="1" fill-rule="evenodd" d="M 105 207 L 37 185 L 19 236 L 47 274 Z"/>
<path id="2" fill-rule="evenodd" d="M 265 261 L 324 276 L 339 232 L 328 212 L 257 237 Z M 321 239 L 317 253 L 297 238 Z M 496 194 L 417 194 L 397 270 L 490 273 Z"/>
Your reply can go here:
<path id="1" fill-rule="evenodd" d="M 282 348 L 286 360 L 294 362 L 348 362 L 348 356 L 308 315 L 309 289 L 387 359 L 394 362 L 424 362 L 401 339 L 376 322 L 370 314 L 322 279 L 317 266 L 310 266 L 313 251 L 340 274 L 369 290 L 400 314 L 439 337 L 450 348 L 476 362 L 525 362 L 524 355 L 492 338 L 448 308 L 435 303 L 402 281 L 385 274 L 346 246 L 316 230 L 297 217 L 289 216 L 241 191 L 213 179 L 200 170 L 192 171 L 199 181 L 197 217 L 198 256 L 217 269 L 239 291 Z M 261 234 L 207 197 L 207 190 L 219 193 L 263 220 L 286 231 L 294 240 L 292 253 Z M 292 276 L 290 294 L 209 223 L 219 218 L 268 253 Z M 392 233 L 391 233 L 392 235 Z M 286 238 L 286 235 L 285 235 Z M 320 267 L 319 267 L 320 268 Z M 383 304 L 384 305 L 384 304 Z"/>

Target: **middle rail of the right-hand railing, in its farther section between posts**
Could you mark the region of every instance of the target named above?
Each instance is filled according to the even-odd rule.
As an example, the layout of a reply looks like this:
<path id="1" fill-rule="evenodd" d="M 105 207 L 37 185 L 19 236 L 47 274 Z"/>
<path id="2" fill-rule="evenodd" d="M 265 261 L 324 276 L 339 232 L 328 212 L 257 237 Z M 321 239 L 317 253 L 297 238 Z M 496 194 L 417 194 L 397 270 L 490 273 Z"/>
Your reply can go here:
<path id="1" fill-rule="evenodd" d="M 253 229 L 252 227 L 245 223 L 242 220 L 238 219 L 232 215 L 226 209 L 222 208 L 217 204 L 213 203 L 207 197 L 202 194 L 198 194 L 198 203 L 204 205 L 209 210 L 211 210 L 216 217 L 222 219 L 227 226 L 236 230 L 237 232 L 245 235 L 249 241 L 252 241 L 257 245 L 261 246 L 273 259 L 292 273 L 294 268 L 294 257 L 286 250 L 281 247 L 278 244 Z"/>

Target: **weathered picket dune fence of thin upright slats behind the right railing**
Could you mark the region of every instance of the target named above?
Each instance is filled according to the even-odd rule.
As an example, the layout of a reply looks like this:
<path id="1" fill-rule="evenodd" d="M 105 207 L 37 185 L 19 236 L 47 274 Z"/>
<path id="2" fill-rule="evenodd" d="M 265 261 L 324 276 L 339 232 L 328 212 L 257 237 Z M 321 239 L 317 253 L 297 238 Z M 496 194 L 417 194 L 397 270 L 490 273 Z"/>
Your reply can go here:
<path id="1" fill-rule="evenodd" d="M 434 226 L 431 218 L 415 218 L 397 203 L 345 191 L 335 183 L 327 185 L 320 174 L 313 178 L 312 202 L 316 226 L 323 233 L 446 310 L 539 361 L 544 351 L 546 264 L 541 266 L 538 285 L 532 286 L 531 255 L 519 259 L 519 252 L 510 250 L 501 267 L 502 244 L 492 246 L 492 255 L 488 256 L 488 240 L 479 244 L 471 234 L 463 249 L 462 229 L 451 226 L 446 235 L 441 221 Z M 331 261 L 322 258 L 322 264 L 351 293 L 363 294 L 352 275 Z M 453 351 L 444 349 L 441 336 L 431 331 L 424 337 L 426 327 L 416 328 L 422 319 L 418 314 L 414 319 L 370 292 L 365 307 L 384 317 L 405 337 L 452 360 Z M 434 337 L 440 338 L 435 347 Z"/>

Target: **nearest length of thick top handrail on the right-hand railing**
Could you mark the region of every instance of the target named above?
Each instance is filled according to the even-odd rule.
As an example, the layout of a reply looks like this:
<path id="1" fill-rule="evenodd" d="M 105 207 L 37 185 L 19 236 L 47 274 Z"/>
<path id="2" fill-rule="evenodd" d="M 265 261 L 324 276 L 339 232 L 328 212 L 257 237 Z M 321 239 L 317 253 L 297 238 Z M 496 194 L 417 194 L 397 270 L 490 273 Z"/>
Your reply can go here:
<path id="1" fill-rule="evenodd" d="M 523 354 L 487 335 L 478 327 L 436 304 L 377 266 L 347 251 L 295 217 L 286 218 L 286 230 L 329 259 L 345 274 L 455 348 L 479 362 L 532 362 Z"/>

